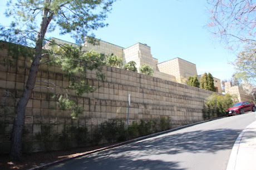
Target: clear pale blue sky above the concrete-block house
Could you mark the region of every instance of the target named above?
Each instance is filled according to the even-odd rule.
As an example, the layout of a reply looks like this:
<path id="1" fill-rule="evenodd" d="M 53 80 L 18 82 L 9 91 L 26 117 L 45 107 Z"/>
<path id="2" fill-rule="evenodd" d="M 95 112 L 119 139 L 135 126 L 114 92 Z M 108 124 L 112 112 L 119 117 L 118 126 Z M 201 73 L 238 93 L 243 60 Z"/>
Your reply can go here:
<path id="1" fill-rule="evenodd" d="M 6 0 L 0 1 L 0 23 Z M 106 22 L 108 27 L 95 31 L 96 38 L 124 48 L 138 42 L 151 47 L 152 57 L 159 63 L 179 57 L 196 64 L 198 75 L 211 73 L 221 80 L 234 73 L 230 62 L 235 54 L 210 33 L 210 13 L 206 0 L 117 0 Z M 50 36 L 75 42 L 58 32 Z"/>

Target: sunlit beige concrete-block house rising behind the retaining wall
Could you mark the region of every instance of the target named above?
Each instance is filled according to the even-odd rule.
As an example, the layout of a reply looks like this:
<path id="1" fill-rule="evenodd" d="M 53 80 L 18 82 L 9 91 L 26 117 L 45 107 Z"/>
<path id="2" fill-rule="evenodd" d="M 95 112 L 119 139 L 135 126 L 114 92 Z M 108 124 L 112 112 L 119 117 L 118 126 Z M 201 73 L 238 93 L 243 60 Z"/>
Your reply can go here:
<path id="1" fill-rule="evenodd" d="M 52 38 L 57 44 L 70 44 L 77 46 L 76 44 L 62 41 L 61 39 Z M 158 59 L 152 57 L 151 48 L 147 44 L 136 43 L 133 46 L 123 48 L 111 44 L 109 42 L 99 40 L 99 44 L 93 45 L 85 39 L 85 43 L 82 44 L 84 51 L 93 50 L 95 52 L 104 53 L 107 56 L 114 54 L 115 56 L 122 57 L 123 63 L 126 64 L 130 61 L 136 62 L 136 67 L 147 64 L 154 69 L 153 76 L 157 78 L 166 79 L 168 81 L 183 82 L 184 79 L 188 79 L 190 76 L 197 76 L 199 81 L 202 75 L 198 75 L 196 71 L 196 65 L 194 63 L 185 61 L 181 58 L 173 58 L 168 61 L 158 63 Z M 220 79 L 214 78 L 214 86 L 217 93 L 221 93 Z"/>

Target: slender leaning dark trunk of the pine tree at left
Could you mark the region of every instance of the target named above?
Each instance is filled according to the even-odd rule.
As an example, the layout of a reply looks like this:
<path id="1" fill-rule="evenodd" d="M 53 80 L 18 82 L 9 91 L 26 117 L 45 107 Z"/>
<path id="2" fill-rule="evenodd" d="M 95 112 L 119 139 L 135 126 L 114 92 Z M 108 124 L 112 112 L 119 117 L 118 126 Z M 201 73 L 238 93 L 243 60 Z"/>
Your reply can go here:
<path id="1" fill-rule="evenodd" d="M 43 38 L 45 37 L 48 24 L 51 22 L 51 19 L 53 17 L 53 13 L 51 13 L 50 16 L 47 17 L 48 13 L 48 11 L 43 11 L 42 22 L 37 34 L 35 53 L 29 71 L 27 84 L 24 88 L 22 97 L 21 99 L 19 99 L 19 102 L 16 106 L 16 115 L 14 117 L 11 148 L 9 153 L 10 158 L 15 160 L 20 160 L 22 157 L 22 132 L 24 126 L 25 109 L 28 100 L 31 97 L 33 88 L 35 87 L 36 76 L 38 72 L 38 67 L 40 66 L 40 60 L 42 55 Z"/>

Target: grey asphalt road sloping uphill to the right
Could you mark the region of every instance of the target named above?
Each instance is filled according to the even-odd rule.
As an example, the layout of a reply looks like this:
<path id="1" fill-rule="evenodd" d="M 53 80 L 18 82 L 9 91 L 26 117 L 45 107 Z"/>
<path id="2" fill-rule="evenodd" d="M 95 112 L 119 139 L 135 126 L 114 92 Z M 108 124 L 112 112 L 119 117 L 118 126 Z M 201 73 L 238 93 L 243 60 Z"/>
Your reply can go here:
<path id="1" fill-rule="evenodd" d="M 254 121 L 254 112 L 216 119 L 49 169 L 226 169 L 235 140 Z"/>

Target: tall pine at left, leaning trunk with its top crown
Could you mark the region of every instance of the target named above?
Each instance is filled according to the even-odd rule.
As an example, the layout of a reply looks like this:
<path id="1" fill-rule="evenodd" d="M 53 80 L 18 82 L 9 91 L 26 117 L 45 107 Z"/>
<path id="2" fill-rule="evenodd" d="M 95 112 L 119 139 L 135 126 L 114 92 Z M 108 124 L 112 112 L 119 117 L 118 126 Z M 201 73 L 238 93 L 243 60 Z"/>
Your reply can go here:
<path id="1" fill-rule="evenodd" d="M 6 15 L 14 17 L 14 22 L 10 27 L 1 26 L 1 39 L 33 47 L 32 64 L 26 87 L 16 106 L 10 149 L 12 159 L 21 159 L 22 156 L 24 113 L 35 87 L 38 66 L 41 64 L 42 56 L 45 55 L 42 47 L 47 39 L 46 33 L 58 26 L 61 34 L 71 33 L 76 42 L 80 44 L 85 36 L 93 36 L 90 31 L 106 26 L 104 20 L 113 2 L 114 0 L 19 0 L 15 3 L 12 1 L 7 3 L 9 9 Z M 90 39 L 90 42 L 93 42 L 93 38 Z"/>

